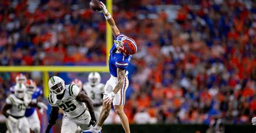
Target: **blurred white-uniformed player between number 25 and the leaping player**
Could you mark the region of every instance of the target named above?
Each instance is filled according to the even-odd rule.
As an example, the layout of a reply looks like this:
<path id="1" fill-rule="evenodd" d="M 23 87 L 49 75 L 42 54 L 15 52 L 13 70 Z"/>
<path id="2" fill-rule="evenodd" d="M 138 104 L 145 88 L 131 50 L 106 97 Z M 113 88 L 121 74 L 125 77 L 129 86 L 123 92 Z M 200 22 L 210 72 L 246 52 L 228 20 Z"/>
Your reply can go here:
<path id="1" fill-rule="evenodd" d="M 104 84 L 100 83 L 101 77 L 98 72 L 91 72 L 88 76 L 88 82 L 84 83 L 84 92 L 92 99 L 96 120 L 99 120 L 99 114 L 102 111 L 102 98 L 104 93 Z"/>

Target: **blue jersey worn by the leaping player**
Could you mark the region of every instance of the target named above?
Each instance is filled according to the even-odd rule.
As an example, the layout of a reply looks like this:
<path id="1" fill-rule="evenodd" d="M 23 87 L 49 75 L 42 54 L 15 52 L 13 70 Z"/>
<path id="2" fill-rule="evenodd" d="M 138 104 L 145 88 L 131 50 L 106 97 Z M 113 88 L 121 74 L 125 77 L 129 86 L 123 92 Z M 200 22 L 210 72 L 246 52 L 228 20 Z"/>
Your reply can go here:
<path id="1" fill-rule="evenodd" d="M 119 34 L 116 36 L 118 37 L 124 36 L 124 34 Z M 115 40 L 116 40 L 115 39 Z M 124 55 L 122 53 L 116 53 L 117 48 L 113 44 L 112 48 L 110 49 L 110 56 L 109 56 L 109 72 L 112 76 L 117 77 L 117 68 L 127 70 L 128 65 L 131 61 L 131 55 Z"/>

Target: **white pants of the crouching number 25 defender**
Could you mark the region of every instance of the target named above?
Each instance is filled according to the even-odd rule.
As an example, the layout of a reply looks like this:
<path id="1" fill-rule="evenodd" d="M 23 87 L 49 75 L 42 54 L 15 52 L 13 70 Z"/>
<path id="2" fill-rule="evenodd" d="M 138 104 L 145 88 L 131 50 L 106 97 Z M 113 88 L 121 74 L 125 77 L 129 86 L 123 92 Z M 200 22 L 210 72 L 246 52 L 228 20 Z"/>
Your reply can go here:
<path id="1" fill-rule="evenodd" d="M 76 132 L 78 126 L 82 130 L 88 130 L 88 125 L 91 121 L 91 115 L 89 111 L 86 109 L 85 113 L 77 118 L 71 118 L 67 115 L 64 115 L 62 120 L 62 133 L 70 133 Z"/>

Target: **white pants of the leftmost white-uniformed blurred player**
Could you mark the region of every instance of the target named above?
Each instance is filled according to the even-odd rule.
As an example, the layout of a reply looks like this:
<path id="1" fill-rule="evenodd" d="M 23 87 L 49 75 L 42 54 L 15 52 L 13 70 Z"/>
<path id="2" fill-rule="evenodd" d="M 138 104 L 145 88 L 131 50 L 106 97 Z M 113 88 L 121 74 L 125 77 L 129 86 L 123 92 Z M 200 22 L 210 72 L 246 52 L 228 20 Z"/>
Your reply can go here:
<path id="1" fill-rule="evenodd" d="M 9 133 L 19 133 L 19 132 L 24 132 L 24 133 L 29 133 L 30 130 L 29 130 L 29 122 L 28 120 L 26 119 L 26 117 L 22 117 L 20 119 L 17 119 L 18 120 L 18 123 L 14 123 L 12 122 L 11 120 L 9 119 L 6 119 L 6 126 L 8 128 L 8 131 L 6 132 L 9 132 Z"/>

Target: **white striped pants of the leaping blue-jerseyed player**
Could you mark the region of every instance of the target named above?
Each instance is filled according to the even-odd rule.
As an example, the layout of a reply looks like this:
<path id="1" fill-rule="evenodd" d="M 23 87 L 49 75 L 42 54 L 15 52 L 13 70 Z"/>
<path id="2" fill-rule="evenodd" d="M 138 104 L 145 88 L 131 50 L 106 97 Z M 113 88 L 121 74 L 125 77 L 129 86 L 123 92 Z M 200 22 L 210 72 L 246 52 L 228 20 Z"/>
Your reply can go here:
<path id="1" fill-rule="evenodd" d="M 117 77 L 114 77 L 111 75 L 110 79 L 107 80 L 106 85 L 104 87 L 105 93 L 112 92 L 114 87 L 116 87 L 117 82 L 118 82 Z M 125 76 L 123 87 L 116 93 L 116 96 L 113 99 L 113 106 L 125 104 L 125 92 L 128 86 L 129 86 L 129 80 L 127 76 Z M 106 96 L 104 95 L 103 99 L 105 98 Z"/>

